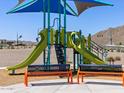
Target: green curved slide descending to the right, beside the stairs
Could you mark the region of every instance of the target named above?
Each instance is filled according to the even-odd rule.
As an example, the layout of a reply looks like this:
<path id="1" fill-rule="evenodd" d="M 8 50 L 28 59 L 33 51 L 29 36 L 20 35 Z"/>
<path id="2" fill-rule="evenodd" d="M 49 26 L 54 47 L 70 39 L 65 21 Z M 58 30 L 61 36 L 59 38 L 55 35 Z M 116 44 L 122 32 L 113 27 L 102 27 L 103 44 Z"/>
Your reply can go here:
<path id="1" fill-rule="evenodd" d="M 81 48 L 81 44 L 76 45 L 73 42 L 73 35 L 78 35 L 76 32 L 72 32 L 71 35 L 69 36 L 69 41 L 70 44 L 72 44 L 73 48 L 78 51 L 81 55 L 83 55 L 85 58 L 89 59 L 95 64 L 106 64 L 102 59 L 94 55 L 92 52 L 88 51 L 86 48 Z"/>

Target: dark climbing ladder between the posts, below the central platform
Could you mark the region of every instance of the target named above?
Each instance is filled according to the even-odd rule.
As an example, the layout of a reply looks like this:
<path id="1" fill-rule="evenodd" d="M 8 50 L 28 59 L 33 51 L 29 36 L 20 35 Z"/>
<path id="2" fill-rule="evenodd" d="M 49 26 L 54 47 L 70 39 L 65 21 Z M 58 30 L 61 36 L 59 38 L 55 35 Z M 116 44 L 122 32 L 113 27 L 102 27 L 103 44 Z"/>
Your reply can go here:
<path id="1" fill-rule="evenodd" d="M 56 57 L 58 64 L 64 64 L 64 52 L 63 52 L 63 46 L 60 44 L 56 44 L 55 46 L 55 51 L 56 51 Z"/>

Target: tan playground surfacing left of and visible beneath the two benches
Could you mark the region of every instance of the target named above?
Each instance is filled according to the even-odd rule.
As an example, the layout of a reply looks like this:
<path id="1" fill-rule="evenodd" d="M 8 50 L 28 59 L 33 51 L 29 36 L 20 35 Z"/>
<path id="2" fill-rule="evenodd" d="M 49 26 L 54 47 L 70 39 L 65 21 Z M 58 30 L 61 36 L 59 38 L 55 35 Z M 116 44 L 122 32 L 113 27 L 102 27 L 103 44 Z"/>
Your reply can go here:
<path id="1" fill-rule="evenodd" d="M 0 70 L 0 86 L 8 86 L 12 84 L 17 83 L 23 83 L 24 80 L 24 69 L 17 70 L 17 75 L 9 75 L 10 72 L 6 70 Z M 48 79 L 58 79 L 58 76 L 50 76 L 50 77 L 31 77 L 30 81 L 38 81 L 38 80 L 48 80 Z M 105 76 L 92 76 L 92 77 L 86 77 L 91 79 L 107 79 L 107 80 L 121 80 L 120 77 L 105 77 Z M 74 76 L 74 79 L 76 79 L 76 75 Z M 76 83 L 76 80 L 75 80 Z"/>

